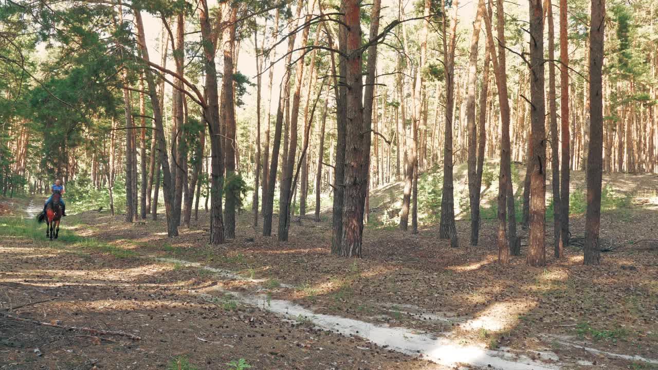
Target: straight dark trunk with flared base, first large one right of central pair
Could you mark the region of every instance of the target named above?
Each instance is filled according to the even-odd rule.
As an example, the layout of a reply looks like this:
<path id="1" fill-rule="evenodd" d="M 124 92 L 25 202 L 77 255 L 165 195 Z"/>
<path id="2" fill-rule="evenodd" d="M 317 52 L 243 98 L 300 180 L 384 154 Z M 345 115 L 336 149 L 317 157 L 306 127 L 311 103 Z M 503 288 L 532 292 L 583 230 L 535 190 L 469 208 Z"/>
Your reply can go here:
<path id="1" fill-rule="evenodd" d="M 445 9 L 445 0 L 442 0 Z M 443 191 L 441 199 L 441 225 L 439 237 L 450 239 L 450 246 L 459 246 L 455 228 L 455 200 L 453 195 L 453 108 L 455 105 L 455 44 L 457 43 L 457 0 L 451 4 L 451 32 L 449 45 L 446 43 L 445 17 L 443 17 L 443 56 L 445 60 L 445 145 L 443 149 Z"/>

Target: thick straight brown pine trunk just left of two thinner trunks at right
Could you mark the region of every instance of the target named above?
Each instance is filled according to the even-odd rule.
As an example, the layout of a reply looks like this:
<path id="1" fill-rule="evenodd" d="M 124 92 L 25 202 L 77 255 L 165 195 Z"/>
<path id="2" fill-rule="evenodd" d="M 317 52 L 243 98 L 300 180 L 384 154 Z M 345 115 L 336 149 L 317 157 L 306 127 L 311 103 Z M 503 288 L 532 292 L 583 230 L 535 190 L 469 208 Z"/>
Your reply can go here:
<path id="1" fill-rule="evenodd" d="M 532 162 L 530 174 L 530 235 L 528 265 L 546 265 L 546 129 L 544 100 L 544 9 L 542 0 L 530 0 L 530 119 Z"/>

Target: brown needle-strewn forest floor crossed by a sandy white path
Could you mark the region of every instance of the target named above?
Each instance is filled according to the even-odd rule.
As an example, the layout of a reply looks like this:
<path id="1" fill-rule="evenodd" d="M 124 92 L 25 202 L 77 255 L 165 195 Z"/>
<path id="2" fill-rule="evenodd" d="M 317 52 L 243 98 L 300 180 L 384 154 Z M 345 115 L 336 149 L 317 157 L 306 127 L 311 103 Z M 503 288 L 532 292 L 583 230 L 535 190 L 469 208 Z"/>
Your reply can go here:
<path id="1" fill-rule="evenodd" d="M 330 254 L 326 221 L 302 217 L 279 243 L 247 212 L 222 246 L 207 243 L 204 211 L 177 238 L 162 215 L 129 224 L 87 211 L 51 242 L 18 217 L 41 198 L 0 199 L 0 369 L 158 369 L 175 358 L 198 369 L 240 358 L 253 369 L 658 369 L 658 176 L 604 182 L 628 201 L 603 211 L 613 251 L 599 267 L 583 266 L 576 245 L 551 257 L 552 220 L 547 267 L 526 266 L 526 247 L 501 267 L 488 219 L 477 247 L 457 221 L 460 248 L 436 225 L 414 235 L 372 223 L 356 260 Z M 571 230 L 577 242 L 582 214 Z"/>

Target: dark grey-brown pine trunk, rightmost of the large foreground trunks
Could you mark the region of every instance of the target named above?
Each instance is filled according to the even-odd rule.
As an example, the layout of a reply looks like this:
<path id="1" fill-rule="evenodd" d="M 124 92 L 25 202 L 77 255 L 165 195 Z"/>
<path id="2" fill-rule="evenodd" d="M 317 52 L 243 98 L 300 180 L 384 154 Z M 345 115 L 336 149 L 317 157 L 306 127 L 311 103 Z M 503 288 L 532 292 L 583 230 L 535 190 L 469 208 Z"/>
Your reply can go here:
<path id="1" fill-rule="evenodd" d="M 605 0 L 592 0 L 590 21 L 590 152 L 587 163 L 587 216 L 585 220 L 585 265 L 599 265 L 601 223 L 601 161 L 603 156 L 603 34 Z"/>

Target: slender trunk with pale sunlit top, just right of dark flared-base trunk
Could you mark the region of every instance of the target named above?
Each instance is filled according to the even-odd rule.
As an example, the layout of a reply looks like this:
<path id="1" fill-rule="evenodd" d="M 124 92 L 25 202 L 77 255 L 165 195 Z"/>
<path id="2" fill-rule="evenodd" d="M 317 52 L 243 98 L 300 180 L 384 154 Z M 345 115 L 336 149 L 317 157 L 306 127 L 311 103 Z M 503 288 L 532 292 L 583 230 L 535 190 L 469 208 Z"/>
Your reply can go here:
<path id="1" fill-rule="evenodd" d="M 475 88 L 478 70 L 478 41 L 480 40 L 480 27 L 484 9 L 478 7 L 473 22 L 473 36 L 470 38 L 470 56 L 468 57 L 468 92 L 466 99 L 466 114 L 468 126 L 468 200 L 470 201 L 470 245 L 478 245 L 478 228 L 480 224 L 480 182 L 478 182 L 477 153 L 478 143 L 475 125 Z M 485 64 L 488 62 L 485 62 Z M 488 71 L 484 72 L 488 74 Z M 483 84 L 486 84 L 483 80 Z M 484 90 L 484 89 L 483 89 Z M 486 92 L 484 102 L 480 99 L 480 107 L 486 106 Z M 480 116 L 484 114 L 480 113 Z M 484 121 L 481 122 L 481 124 Z M 481 172 L 480 172 L 481 173 Z M 481 174 L 480 174 L 481 176 Z"/>

